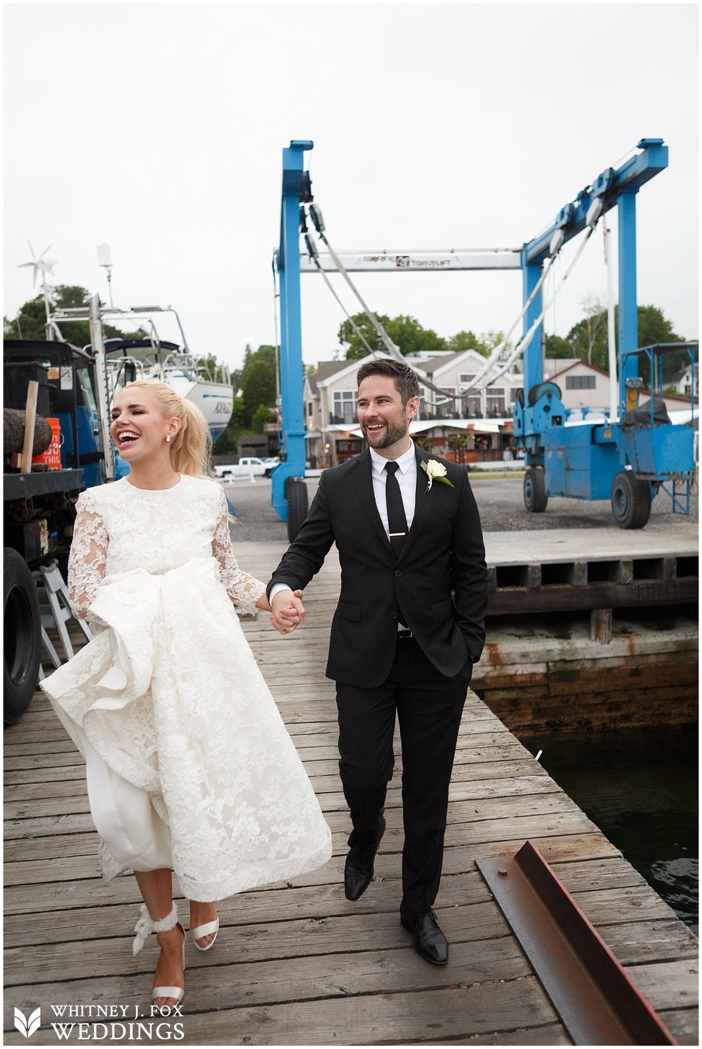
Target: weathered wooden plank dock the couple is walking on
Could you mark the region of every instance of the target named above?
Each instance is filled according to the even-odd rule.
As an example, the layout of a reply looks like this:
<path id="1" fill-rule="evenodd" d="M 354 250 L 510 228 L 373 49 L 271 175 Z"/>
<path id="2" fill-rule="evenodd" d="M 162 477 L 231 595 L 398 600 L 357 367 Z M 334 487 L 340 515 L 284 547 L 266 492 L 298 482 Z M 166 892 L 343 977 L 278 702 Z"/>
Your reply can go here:
<path id="1" fill-rule="evenodd" d="M 279 543 L 237 544 L 268 578 Z M 698 1043 L 698 942 L 533 756 L 469 693 L 450 793 L 435 909 L 451 943 L 446 968 L 413 951 L 401 927 L 399 768 L 376 881 L 344 898 L 349 832 L 338 778 L 334 685 L 324 678 L 338 593 L 332 556 L 305 597 L 307 623 L 280 638 L 268 617 L 244 630 L 334 835 L 334 857 L 291 883 L 219 907 L 216 946 L 187 948 L 180 1045 L 570 1045 L 475 858 L 531 838 L 681 1044 Z M 398 766 L 400 748 L 396 748 Z M 139 893 L 100 878 L 82 763 L 43 695 L 5 730 L 4 1044 L 56 1045 L 52 1005 L 147 1013 L 155 940 L 131 954 Z M 180 917 L 187 920 L 180 901 Z M 152 938 L 153 939 L 153 938 Z M 42 1009 L 29 1040 L 14 1009 Z M 64 1022 L 66 1022 L 64 1018 Z M 62 1041 L 78 1042 L 75 1028 Z M 116 1040 L 120 1041 L 119 1039 Z M 161 1037 L 125 1037 L 161 1044 Z M 171 1034 L 171 1041 L 176 1041 Z M 109 1037 L 101 1044 L 110 1044 Z M 114 1044 L 114 1040 L 111 1042 Z"/>

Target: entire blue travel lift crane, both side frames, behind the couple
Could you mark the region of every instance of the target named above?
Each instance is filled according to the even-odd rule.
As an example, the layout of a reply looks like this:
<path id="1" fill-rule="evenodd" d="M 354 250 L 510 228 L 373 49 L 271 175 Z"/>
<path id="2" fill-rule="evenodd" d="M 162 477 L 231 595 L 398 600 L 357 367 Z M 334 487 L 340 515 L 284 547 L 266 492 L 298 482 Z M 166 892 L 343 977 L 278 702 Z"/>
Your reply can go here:
<path id="1" fill-rule="evenodd" d="M 304 487 L 304 419 L 302 405 L 302 341 L 300 325 L 300 230 L 305 231 L 304 205 L 313 199 L 304 152 L 310 141 L 293 141 L 283 149 L 280 247 L 274 257 L 280 287 L 280 391 L 282 402 L 282 451 L 285 461 L 273 473 L 273 507 L 293 539 L 307 508 Z M 652 498 L 662 488 L 673 499 L 674 512 L 689 513 L 690 487 L 695 477 L 694 394 L 697 344 L 638 346 L 636 298 L 636 194 L 667 167 L 667 147 L 662 138 L 642 138 L 641 152 L 617 168 L 605 169 L 574 201 L 560 209 L 546 232 L 524 245 L 519 261 L 511 253 L 494 254 L 493 261 L 473 259 L 453 269 L 506 269 L 520 265 L 524 313 L 524 390 L 513 410 L 513 429 L 526 450 L 527 471 L 524 500 L 527 510 L 546 510 L 548 498 L 611 498 L 612 512 L 620 528 L 642 528 L 648 520 Z M 563 243 L 590 228 L 616 205 L 619 237 L 619 340 L 618 420 L 567 425 L 560 390 L 544 382 L 541 285 L 547 259 Z M 554 247 L 555 245 L 555 247 Z M 409 258 L 409 256 L 407 256 Z M 375 259 L 374 261 L 379 261 Z M 388 260 L 391 263 L 391 260 Z M 348 270 L 365 269 L 348 265 Z M 405 272 L 409 272 L 405 270 Z M 570 271 L 569 271 L 570 272 Z M 538 322 L 538 323 L 537 323 Z M 533 330 L 532 330 L 533 328 Z M 692 362 L 689 425 L 673 425 L 654 399 L 656 378 L 662 392 L 661 358 L 687 349 Z M 639 359 L 650 364 L 651 401 L 639 407 L 643 382 Z M 672 489 L 665 488 L 666 484 Z M 684 494 L 683 494 L 684 493 Z"/>

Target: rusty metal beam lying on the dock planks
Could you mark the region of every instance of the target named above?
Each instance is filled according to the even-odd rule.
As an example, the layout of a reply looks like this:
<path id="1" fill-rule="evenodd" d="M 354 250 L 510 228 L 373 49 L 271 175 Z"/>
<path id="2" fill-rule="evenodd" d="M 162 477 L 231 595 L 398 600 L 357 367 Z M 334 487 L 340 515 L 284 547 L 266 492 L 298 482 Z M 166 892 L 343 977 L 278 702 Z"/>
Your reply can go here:
<path id="1" fill-rule="evenodd" d="M 475 860 L 576 1045 L 677 1045 L 532 841 Z"/>

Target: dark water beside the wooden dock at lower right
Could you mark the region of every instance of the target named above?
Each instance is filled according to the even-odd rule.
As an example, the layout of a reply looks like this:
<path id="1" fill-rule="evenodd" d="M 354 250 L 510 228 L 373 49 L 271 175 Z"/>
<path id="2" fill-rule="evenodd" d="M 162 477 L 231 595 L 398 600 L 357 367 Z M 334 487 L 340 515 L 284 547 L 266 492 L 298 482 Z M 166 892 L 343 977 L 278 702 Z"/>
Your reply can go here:
<path id="1" fill-rule="evenodd" d="M 523 741 L 549 775 L 699 935 L 697 726 Z"/>

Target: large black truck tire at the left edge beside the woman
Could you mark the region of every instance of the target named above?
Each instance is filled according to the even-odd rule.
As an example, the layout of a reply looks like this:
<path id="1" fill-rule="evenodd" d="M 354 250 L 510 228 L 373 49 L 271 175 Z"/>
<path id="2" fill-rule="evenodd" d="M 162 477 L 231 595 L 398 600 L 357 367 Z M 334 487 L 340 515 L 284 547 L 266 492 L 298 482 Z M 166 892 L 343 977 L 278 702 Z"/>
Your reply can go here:
<path id="1" fill-rule="evenodd" d="M 29 706 L 39 680 L 41 612 L 31 573 L 10 547 L 4 548 L 3 569 L 3 718 L 5 725 L 14 725 Z"/>

